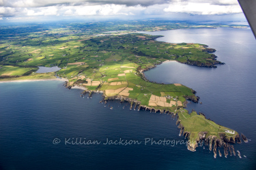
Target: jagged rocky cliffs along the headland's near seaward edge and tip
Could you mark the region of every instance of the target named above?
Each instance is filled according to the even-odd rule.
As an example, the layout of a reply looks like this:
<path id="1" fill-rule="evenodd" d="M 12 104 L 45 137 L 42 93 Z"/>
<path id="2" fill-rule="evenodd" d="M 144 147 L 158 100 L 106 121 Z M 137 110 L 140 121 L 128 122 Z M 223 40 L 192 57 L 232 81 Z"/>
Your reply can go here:
<path id="1" fill-rule="evenodd" d="M 67 88 L 69 88 L 70 86 L 68 86 L 68 82 L 65 82 L 65 84 L 63 84 L 64 86 L 66 86 Z M 91 97 L 91 95 L 94 92 L 100 92 L 100 91 L 91 91 L 91 90 L 85 90 L 83 92 L 83 95 L 86 95 L 87 93 L 89 94 L 89 97 Z M 178 125 L 177 127 L 180 129 L 180 136 L 183 135 L 185 137 L 185 139 L 188 139 L 188 144 L 187 144 L 187 149 L 195 152 L 196 148 L 203 145 L 203 143 L 205 144 L 205 146 L 209 146 L 209 150 L 214 152 L 214 158 L 216 158 L 217 156 L 217 148 L 223 148 L 224 149 L 224 155 L 225 157 L 227 157 L 228 154 L 232 155 L 236 155 L 236 152 L 233 148 L 233 146 L 230 143 L 241 143 L 241 139 L 240 139 L 240 135 L 237 134 L 233 137 L 228 137 L 226 135 L 226 133 L 219 133 L 219 137 L 217 137 L 216 135 L 208 135 L 208 131 L 201 131 L 199 132 L 197 135 L 196 140 L 194 139 L 190 139 L 190 135 L 191 132 L 190 131 L 185 131 L 185 126 L 181 123 L 182 121 L 180 120 L 180 114 L 177 114 L 175 112 L 171 112 L 167 109 L 155 109 L 154 107 L 148 107 L 146 105 L 141 105 L 140 101 L 137 101 L 135 99 L 130 99 L 128 97 L 124 97 L 122 95 L 115 95 L 112 97 L 106 97 L 104 95 L 102 95 L 102 97 L 104 97 L 104 99 L 102 101 L 100 101 L 100 103 L 107 103 L 107 101 L 111 101 L 111 100 L 119 100 L 121 103 L 124 101 L 128 101 L 130 103 L 130 109 L 132 109 L 132 107 L 134 107 L 134 109 L 138 109 L 138 110 L 147 110 L 150 112 L 160 112 L 160 113 L 165 113 L 165 114 L 171 114 L 171 116 L 173 116 L 174 118 L 177 117 L 177 121 L 176 124 Z M 205 120 L 209 120 L 206 119 L 205 115 L 201 112 L 199 112 L 199 115 L 203 116 L 203 118 L 205 118 Z M 242 139 L 245 142 L 248 142 L 248 139 L 246 139 L 245 135 L 242 134 Z M 218 150 L 219 155 L 221 156 L 221 151 Z"/>

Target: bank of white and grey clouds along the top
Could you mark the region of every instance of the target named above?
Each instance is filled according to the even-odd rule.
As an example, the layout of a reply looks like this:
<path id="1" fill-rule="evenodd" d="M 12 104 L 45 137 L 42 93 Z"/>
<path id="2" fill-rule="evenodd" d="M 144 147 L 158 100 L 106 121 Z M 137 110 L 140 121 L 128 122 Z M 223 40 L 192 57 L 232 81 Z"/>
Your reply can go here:
<path id="1" fill-rule="evenodd" d="M 237 0 L 0 0 L 0 17 L 237 14 Z M 138 18 L 137 17 L 137 18 Z"/>

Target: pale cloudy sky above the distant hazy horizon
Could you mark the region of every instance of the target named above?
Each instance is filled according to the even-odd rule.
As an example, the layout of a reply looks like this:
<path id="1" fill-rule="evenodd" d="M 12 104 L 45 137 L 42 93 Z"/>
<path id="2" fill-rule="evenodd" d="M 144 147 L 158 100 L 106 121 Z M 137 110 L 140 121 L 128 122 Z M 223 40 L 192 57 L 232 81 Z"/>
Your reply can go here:
<path id="1" fill-rule="evenodd" d="M 0 22 L 145 18 L 246 20 L 237 0 L 0 0 Z"/>

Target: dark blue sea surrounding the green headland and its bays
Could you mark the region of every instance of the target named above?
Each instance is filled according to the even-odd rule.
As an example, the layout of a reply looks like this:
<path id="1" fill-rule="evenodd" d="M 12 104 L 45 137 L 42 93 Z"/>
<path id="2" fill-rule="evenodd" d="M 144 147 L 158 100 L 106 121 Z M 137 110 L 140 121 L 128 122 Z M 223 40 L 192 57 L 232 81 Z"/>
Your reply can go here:
<path id="1" fill-rule="evenodd" d="M 81 98 L 62 82 L 0 84 L 0 169 L 254 169 L 256 158 L 256 40 L 248 29 L 188 29 L 150 33 L 159 41 L 194 42 L 216 48 L 216 69 L 164 63 L 147 71 L 148 79 L 182 83 L 197 91 L 203 112 L 218 124 L 244 133 L 249 143 L 235 144 L 238 156 L 217 156 L 203 147 L 190 152 L 179 137 L 175 120 L 166 114 L 130 110 L 113 101 L 113 110 L 98 103 L 100 94 Z M 164 73 L 163 73 L 164 72 Z M 125 109 L 122 107 L 125 106 Z M 104 145 L 106 138 L 141 142 Z M 55 138 L 60 143 L 53 144 Z M 99 144 L 65 145 L 65 138 L 86 138 Z M 169 140 L 163 146 L 145 138 Z M 58 141 L 57 139 L 55 141 Z M 171 143 L 170 143 L 171 141 Z M 186 140 L 184 140 L 186 142 Z M 221 149 L 223 153 L 223 150 Z M 246 155 L 247 158 L 244 158 Z"/>

